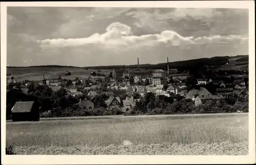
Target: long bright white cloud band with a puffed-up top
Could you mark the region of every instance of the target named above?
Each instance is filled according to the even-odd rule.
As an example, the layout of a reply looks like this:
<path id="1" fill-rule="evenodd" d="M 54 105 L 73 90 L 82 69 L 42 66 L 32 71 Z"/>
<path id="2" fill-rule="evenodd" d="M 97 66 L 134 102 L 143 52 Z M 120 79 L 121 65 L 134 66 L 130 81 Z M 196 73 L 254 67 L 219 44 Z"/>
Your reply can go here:
<path id="1" fill-rule="evenodd" d="M 95 33 L 87 38 L 70 38 L 70 39 L 46 39 L 39 40 L 42 48 L 48 47 L 69 47 L 81 46 L 87 44 L 98 44 L 105 47 L 118 47 L 118 46 L 140 46 L 156 44 L 167 44 L 170 46 L 184 46 L 193 44 L 212 44 L 212 43 L 231 43 L 242 42 L 247 40 L 241 36 L 211 36 L 211 37 L 183 37 L 174 31 L 163 31 L 160 34 L 149 34 L 135 36 L 132 33 L 131 27 L 125 24 L 114 22 L 106 27 L 106 32 L 103 34 Z"/>

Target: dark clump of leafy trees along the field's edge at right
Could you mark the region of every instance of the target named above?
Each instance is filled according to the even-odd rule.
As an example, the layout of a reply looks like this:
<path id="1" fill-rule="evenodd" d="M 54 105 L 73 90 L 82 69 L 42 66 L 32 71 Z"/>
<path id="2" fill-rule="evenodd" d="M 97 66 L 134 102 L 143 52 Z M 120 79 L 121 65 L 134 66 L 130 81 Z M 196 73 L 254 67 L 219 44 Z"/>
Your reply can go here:
<path id="1" fill-rule="evenodd" d="M 249 111 L 248 94 L 230 94 L 222 100 L 207 100 L 195 106 L 194 101 L 184 99 L 179 95 L 156 96 L 147 93 L 143 99 L 136 102 L 136 106 L 127 112 L 128 115 L 160 115 L 160 114 L 202 114 L 202 113 L 230 113 Z"/>

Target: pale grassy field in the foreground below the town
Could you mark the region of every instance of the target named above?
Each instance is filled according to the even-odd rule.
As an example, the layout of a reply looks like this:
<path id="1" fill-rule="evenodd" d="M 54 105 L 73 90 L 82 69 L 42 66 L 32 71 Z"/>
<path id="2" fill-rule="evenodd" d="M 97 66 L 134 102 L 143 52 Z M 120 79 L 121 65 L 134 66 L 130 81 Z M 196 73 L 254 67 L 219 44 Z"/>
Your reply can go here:
<path id="1" fill-rule="evenodd" d="M 248 114 L 7 122 L 6 139 L 17 154 L 244 155 Z"/>

